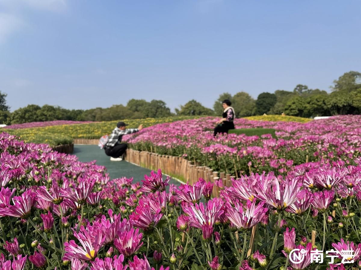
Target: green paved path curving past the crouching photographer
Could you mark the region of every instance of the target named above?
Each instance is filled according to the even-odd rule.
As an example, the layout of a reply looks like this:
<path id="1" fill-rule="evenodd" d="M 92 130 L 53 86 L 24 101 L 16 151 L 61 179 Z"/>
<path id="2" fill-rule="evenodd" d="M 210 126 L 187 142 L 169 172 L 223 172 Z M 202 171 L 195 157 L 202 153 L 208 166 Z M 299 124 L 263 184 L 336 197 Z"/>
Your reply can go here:
<path id="1" fill-rule="evenodd" d="M 105 166 L 110 175 L 110 179 L 119 177 L 133 177 L 134 183 L 144 180 L 144 175 L 149 175 L 151 170 L 136 166 L 126 161 L 110 161 L 110 157 L 106 156 L 104 150 L 101 150 L 97 145 L 74 145 L 74 155 L 79 158 L 79 161 L 89 162 L 96 160 L 97 165 Z M 166 176 L 163 175 L 163 179 Z M 179 185 L 176 180 L 171 179 L 169 184 Z"/>

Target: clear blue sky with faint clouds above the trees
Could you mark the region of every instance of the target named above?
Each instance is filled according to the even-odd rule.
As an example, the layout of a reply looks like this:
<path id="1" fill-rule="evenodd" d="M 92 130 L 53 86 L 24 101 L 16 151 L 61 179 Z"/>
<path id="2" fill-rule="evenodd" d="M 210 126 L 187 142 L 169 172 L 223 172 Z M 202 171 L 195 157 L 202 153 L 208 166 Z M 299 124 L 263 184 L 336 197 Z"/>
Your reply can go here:
<path id="1" fill-rule="evenodd" d="M 0 0 L 0 91 L 88 109 L 329 90 L 361 72 L 361 1 Z"/>

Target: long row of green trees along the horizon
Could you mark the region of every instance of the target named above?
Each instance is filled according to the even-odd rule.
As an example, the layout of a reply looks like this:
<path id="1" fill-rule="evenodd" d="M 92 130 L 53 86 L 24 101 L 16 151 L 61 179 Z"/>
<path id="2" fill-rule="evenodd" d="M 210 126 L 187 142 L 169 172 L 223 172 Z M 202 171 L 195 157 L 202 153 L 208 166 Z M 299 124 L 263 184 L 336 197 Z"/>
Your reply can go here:
<path id="1" fill-rule="evenodd" d="M 248 93 L 235 95 L 223 93 L 214 102 L 213 109 L 204 107 L 192 99 L 180 108 L 176 115 L 219 116 L 223 112 L 222 101 L 229 99 L 235 108 L 236 117 L 266 114 L 286 114 L 291 116 L 315 117 L 337 114 L 361 114 L 361 73 L 350 71 L 333 81 L 331 93 L 325 90 L 310 89 L 306 85 L 296 85 L 293 91 L 276 90 L 264 92 L 253 99 Z M 175 115 L 162 100 L 131 99 L 126 105 L 113 105 L 109 108 L 69 110 L 59 106 L 34 104 L 9 112 L 6 94 L 0 92 L 0 123 L 15 124 L 25 122 L 76 120 L 112 121 L 147 117 L 167 117 Z"/>

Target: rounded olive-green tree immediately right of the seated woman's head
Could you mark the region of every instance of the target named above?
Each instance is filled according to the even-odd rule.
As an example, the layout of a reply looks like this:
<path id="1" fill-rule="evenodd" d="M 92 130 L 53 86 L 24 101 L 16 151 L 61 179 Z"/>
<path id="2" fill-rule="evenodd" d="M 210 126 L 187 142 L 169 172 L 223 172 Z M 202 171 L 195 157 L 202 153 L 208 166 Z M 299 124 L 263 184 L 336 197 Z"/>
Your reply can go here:
<path id="1" fill-rule="evenodd" d="M 232 97 L 231 102 L 232 107 L 235 110 L 236 117 L 251 116 L 255 113 L 256 101 L 248 93 L 238 92 Z M 219 115 L 221 115 L 222 113 L 220 113 Z"/>

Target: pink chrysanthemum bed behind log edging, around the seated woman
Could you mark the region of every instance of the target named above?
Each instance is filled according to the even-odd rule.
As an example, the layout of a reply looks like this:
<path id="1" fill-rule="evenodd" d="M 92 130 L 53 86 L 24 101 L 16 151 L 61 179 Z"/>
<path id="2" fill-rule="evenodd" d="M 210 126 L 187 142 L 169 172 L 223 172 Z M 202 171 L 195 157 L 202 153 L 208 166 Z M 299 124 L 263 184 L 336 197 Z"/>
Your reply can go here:
<path id="1" fill-rule="evenodd" d="M 334 116 L 308 123 L 235 120 L 236 129 L 275 129 L 271 134 L 213 137 L 214 118 L 184 120 L 147 127 L 125 136 L 130 148 L 182 156 L 197 166 L 236 177 L 274 171 L 285 176 L 294 166 L 325 159 L 350 163 L 360 155 L 361 116 Z"/>

